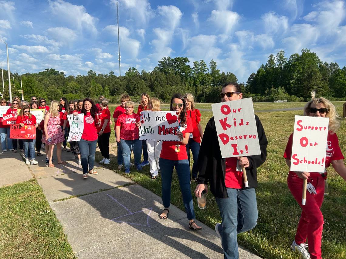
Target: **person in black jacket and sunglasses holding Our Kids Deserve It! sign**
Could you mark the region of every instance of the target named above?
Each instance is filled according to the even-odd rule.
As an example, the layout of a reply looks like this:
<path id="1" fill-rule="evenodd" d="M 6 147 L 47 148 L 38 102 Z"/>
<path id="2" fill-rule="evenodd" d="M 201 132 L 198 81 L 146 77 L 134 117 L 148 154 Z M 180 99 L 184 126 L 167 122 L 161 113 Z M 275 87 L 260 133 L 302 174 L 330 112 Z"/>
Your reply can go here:
<path id="1" fill-rule="evenodd" d="M 237 83 L 222 86 L 221 102 L 242 99 L 243 94 Z M 214 117 L 204 131 L 198 155 L 198 185 L 195 195 L 201 196 L 203 190 L 210 191 L 218 204 L 222 223 L 215 225 L 227 259 L 239 258 L 237 234 L 256 226 L 258 211 L 255 187 L 257 187 L 257 167 L 267 156 L 267 138 L 260 119 L 255 115 L 258 141 L 261 154 L 254 156 L 222 158 Z M 237 167 L 245 167 L 249 187 L 244 186 L 243 172 Z"/>

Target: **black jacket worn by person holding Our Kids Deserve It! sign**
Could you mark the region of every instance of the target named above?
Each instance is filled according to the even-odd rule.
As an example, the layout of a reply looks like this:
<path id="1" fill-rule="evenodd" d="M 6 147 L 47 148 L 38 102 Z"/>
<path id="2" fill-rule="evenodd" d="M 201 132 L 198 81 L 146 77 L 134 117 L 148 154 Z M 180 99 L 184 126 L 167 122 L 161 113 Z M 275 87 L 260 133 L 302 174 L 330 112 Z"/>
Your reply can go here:
<path id="1" fill-rule="evenodd" d="M 267 157 L 267 137 L 265 136 L 260 119 L 256 115 L 255 119 L 261 155 L 247 156 L 249 167 L 246 167 L 246 175 L 249 187 L 243 189 L 257 187 L 256 168 L 263 164 Z M 214 196 L 218 198 L 228 198 L 225 184 L 226 159 L 221 157 L 214 117 L 209 120 L 203 134 L 198 155 L 198 171 L 198 183 L 208 184 L 209 182 L 210 191 Z"/>

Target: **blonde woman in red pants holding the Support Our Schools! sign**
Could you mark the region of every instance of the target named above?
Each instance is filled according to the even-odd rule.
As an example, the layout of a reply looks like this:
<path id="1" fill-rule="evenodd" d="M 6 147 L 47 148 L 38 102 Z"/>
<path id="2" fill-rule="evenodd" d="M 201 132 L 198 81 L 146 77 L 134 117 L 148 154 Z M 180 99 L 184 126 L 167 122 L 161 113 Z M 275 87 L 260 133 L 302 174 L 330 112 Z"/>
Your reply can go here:
<path id="1" fill-rule="evenodd" d="M 340 127 L 340 117 L 336 112 L 335 106 L 329 100 L 323 97 L 315 98 L 315 92 L 311 92 L 311 97 L 311 100 L 304 107 L 304 115 L 329 118 L 325 168 L 331 164 L 335 171 L 346 181 L 346 167 L 343 162 L 344 156 L 340 150 L 338 136 L 336 135 L 336 131 Z M 288 140 L 284 153 L 284 158 L 289 167 L 291 165 L 292 140 L 293 133 Z M 307 192 L 306 204 L 302 205 L 302 186 L 303 181 L 306 179 L 315 188 L 315 192 Z M 302 208 L 291 249 L 298 250 L 304 259 L 322 258 L 321 240 L 324 220 L 320 208 L 324 199 L 326 179 L 327 170 L 324 173 L 290 171 L 287 177 L 288 188 Z M 309 252 L 306 249 L 308 247 L 308 244 L 306 244 L 307 239 Z"/>

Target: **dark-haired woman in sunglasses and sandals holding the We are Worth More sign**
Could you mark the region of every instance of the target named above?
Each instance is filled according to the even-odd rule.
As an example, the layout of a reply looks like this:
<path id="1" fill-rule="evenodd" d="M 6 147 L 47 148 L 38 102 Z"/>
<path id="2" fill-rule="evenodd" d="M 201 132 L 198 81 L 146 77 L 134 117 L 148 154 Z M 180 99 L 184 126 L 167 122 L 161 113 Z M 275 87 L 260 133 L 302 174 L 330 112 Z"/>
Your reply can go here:
<path id="1" fill-rule="evenodd" d="M 180 141 L 162 142 L 159 164 L 162 177 L 162 203 L 164 209 L 159 217 L 160 219 L 167 219 L 168 217 L 171 204 L 172 174 L 175 167 L 183 196 L 185 212 L 189 220 L 189 228 L 191 230 L 201 230 L 202 228 L 194 222 L 195 213 L 190 188 L 190 164 L 185 147 L 189 142 L 190 133 L 193 129 L 190 117 L 186 116 L 186 102 L 181 94 L 173 95 L 170 110 L 176 111 L 179 122 L 176 135 Z"/>

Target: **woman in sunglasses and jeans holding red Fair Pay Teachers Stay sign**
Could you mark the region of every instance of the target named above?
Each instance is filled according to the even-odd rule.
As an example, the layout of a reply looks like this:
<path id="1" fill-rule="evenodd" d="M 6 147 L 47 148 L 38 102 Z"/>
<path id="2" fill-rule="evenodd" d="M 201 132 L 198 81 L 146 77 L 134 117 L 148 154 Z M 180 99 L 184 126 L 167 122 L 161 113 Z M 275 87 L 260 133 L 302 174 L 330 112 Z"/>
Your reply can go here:
<path id="1" fill-rule="evenodd" d="M 21 127 L 24 127 L 25 125 L 31 125 L 38 127 L 38 124 L 36 123 L 36 117 L 35 115 L 30 113 L 30 108 L 28 105 L 24 105 L 17 117 L 16 124 L 20 124 Z M 29 157 L 31 159 L 32 165 L 37 165 L 38 162 L 35 160 L 35 142 L 36 140 L 31 139 L 23 139 L 24 143 L 24 155 L 25 155 L 25 163 L 30 164 Z"/>

